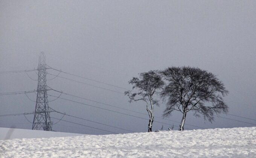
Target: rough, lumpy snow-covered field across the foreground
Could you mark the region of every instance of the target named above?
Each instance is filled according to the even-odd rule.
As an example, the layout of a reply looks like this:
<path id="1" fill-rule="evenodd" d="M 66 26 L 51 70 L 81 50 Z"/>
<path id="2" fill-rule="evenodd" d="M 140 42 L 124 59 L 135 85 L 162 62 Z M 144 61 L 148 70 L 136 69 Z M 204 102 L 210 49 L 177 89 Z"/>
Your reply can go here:
<path id="1" fill-rule="evenodd" d="M 256 157 L 256 127 L 0 141 L 0 157 Z"/>

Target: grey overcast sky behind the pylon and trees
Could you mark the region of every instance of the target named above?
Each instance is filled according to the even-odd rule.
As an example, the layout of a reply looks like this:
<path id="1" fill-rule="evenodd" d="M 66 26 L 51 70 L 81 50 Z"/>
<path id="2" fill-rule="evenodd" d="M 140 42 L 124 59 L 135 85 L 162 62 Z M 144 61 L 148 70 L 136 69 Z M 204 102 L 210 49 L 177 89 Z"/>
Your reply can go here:
<path id="1" fill-rule="evenodd" d="M 208 70 L 226 85 L 224 98 L 229 114 L 209 123 L 188 114 L 184 128 L 232 128 L 256 124 L 256 1 L 0 1 L 0 71 L 37 68 L 38 55 L 46 54 L 53 68 L 84 76 L 107 84 L 131 89 L 128 81 L 140 72 L 163 70 L 169 66 L 192 66 Z M 47 70 L 58 74 L 57 71 Z M 29 76 L 37 79 L 35 72 Z M 125 90 L 61 73 L 59 76 L 107 88 L 120 93 Z M 146 113 L 143 102 L 128 103 L 128 97 L 102 88 L 69 81 L 47 74 L 47 85 L 79 97 Z M 26 73 L 0 74 L 0 93 L 36 90 L 37 81 Z M 49 91 L 48 94 L 58 96 Z M 28 94 L 36 100 L 36 94 Z M 62 94 L 63 98 L 111 109 L 148 119 L 147 115 L 114 108 L 89 100 Z M 55 99 L 49 96 L 49 100 Z M 49 106 L 67 114 L 95 122 L 147 131 L 148 120 L 118 114 L 58 99 Z M 155 108 L 162 117 L 165 105 Z M 0 96 L 0 115 L 33 112 L 35 102 L 24 94 Z M 26 115 L 33 121 L 33 115 Z M 51 113 L 61 118 L 61 114 Z M 181 121 L 181 113 L 169 118 Z M 126 133 L 85 120 L 65 116 L 63 120 Z M 58 122 L 52 119 L 53 123 Z M 156 118 L 155 121 L 179 123 Z M 153 130 L 163 125 L 153 123 Z M 245 123 L 247 122 L 247 123 Z M 251 123 L 251 124 L 250 124 Z M 189 124 L 189 125 L 187 125 Z M 254 124 L 254 125 L 253 125 Z M 1 127 L 31 129 L 23 115 L 0 117 Z M 195 126 L 190 126 L 195 125 Z M 84 134 L 107 134 L 85 126 L 60 121 L 53 130 Z"/>

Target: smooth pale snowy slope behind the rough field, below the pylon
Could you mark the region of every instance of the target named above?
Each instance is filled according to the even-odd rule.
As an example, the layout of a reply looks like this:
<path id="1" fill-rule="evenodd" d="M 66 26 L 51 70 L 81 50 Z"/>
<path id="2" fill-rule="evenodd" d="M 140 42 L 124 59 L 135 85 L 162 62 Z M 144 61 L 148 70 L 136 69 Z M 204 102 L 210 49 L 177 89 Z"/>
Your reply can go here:
<path id="1" fill-rule="evenodd" d="M 79 135 L 83 135 L 83 134 L 0 127 L 0 140 L 15 139 L 15 138 L 69 137 L 69 136 L 79 136 Z"/>

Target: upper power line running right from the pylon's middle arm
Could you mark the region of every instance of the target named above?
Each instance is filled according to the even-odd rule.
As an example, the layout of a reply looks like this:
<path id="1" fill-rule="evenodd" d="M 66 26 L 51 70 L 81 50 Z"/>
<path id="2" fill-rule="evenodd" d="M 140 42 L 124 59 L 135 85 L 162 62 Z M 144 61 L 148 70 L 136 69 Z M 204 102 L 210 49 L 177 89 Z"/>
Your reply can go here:
<path id="1" fill-rule="evenodd" d="M 50 88 L 50 87 L 49 87 L 49 88 Z M 145 113 L 142 113 L 142 112 L 137 112 L 137 111 L 133 111 L 133 110 L 125 109 L 125 108 L 120 108 L 120 107 L 118 107 L 118 106 L 114 106 L 114 105 L 110 105 L 110 104 L 107 104 L 107 103 L 98 102 L 98 101 L 91 100 L 91 99 L 87 99 L 87 98 L 84 98 L 84 97 L 78 97 L 78 96 L 75 96 L 75 95 L 72 95 L 72 94 L 68 94 L 68 93 L 64 93 L 64 92 L 61 92 L 61 91 L 54 90 L 54 89 L 52 89 L 52 88 L 50 88 L 50 89 L 53 90 L 53 91 L 59 92 L 59 93 L 63 93 L 63 94 L 69 95 L 69 96 L 73 96 L 73 97 L 77 97 L 77 98 L 80 98 L 80 99 L 89 100 L 89 101 L 91 101 L 91 102 L 96 102 L 96 103 L 100 103 L 100 104 L 103 104 L 103 105 L 112 106 L 112 107 L 115 107 L 115 108 L 119 108 L 119 109 L 131 111 L 131 112 L 136 112 L 136 113 L 138 113 L 138 114 L 148 115 L 148 114 L 145 114 Z M 174 120 L 163 119 L 162 117 L 157 117 L 157 116 L 155 116 L 155 118 L 162 119 L 162 120 L 168 120 L 168 121 L 172 121 L 172 122 L 176 122 L 176 123 L 180 123 L 180 122 L 174 121 Z M 186 125 L 189 125 L 189 124 L 186 124 Z M 194 127 L 197 127 L 197 128 L 204 129 L 203 127 L 200 127 L 200 126 L 195 126 L 195 125 L 189 125 L 189 126 L 194 126 Z"/>

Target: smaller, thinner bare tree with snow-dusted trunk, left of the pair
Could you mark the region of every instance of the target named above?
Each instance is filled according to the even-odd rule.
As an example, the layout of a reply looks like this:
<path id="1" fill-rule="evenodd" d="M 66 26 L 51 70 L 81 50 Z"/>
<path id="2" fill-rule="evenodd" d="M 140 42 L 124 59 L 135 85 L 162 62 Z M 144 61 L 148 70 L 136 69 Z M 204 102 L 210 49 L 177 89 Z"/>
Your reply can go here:
<path id="1" fill-rule="evenodd" d="M 132 84 L 133 89 L 137 89 L 138 92 L 125 91 L 125 95 L 130 98 L 129 102 L 142 100 L 146 103 L 146 110 L 149 115 L 148 132 L 151 132 L 152 123 L 154 122 L 154 105 L 158 105 L 158 100 L 153 99 L 153 95 L 164 85 L 162 77 L 157 70 L 148 71 L 140 73 L 139 78 L 133 77 L 129 84 Z"/>

